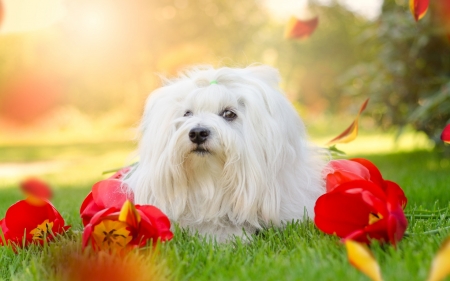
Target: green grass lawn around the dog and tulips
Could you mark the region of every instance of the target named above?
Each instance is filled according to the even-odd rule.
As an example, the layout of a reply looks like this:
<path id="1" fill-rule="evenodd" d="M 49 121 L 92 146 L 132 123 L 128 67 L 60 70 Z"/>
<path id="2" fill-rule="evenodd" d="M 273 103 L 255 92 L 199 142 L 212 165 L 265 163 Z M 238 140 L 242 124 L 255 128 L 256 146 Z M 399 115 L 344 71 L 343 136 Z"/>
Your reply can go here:
<path id="1" fill-rule="evenodd" d="M 44 249 L 30 247 L 14 253 L 0 247 L 0 280 L 61 280 L 64 271 L 71 272 L 61 266 L 70 264 L 63 261 L 87 255 L 80 247 L 78 210 L 82 200 L 93 183 L 106 177 L 102 171 L 131 162 L 133 149 L 133 143 L 118 141 L 0 146 L 0 218 L 11 204 L 22 199 L 18 181 L 29 174 L 40 174 L 54 188 L 52 202 L 72 225 L 67 236 Z M 408 235 L 397 249 L 372 246 L 384 279 L 426 280 L 434 254 L 450 233 L 444 229 L 424 234 L 450 227 L 446 209 L 450 202 L 450 159 L 424 148 L 366 154 L 359 151 L 350 156 L 373 161 L 385 179 L 405 190 L 409 200 Z M 436 210 L 441 211 L 430 212 Z M 147 262 L 144 266 L 130 266 L 130 272 L 147 270 L 139 280 L 152 280 L 152 276 L 162 280 L 368 280 L 348 263 L 339 239 L 322 234 L 310 221 L 293 222 L 282 230 L 264 230 L 252 236 L 249 243 L 235 239 L 216 244 L 177 229 L 172 241 L 156 249 L 141 254 Z M 76 262 L 72 265 L 82 268 Z"/>

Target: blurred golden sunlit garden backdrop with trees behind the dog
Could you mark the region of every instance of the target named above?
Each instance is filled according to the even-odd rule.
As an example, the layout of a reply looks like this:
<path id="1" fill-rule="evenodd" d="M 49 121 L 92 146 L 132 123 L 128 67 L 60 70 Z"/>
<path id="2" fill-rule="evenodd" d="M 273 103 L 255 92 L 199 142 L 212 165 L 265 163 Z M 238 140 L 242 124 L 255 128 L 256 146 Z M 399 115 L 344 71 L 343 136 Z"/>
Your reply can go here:
<path id="1" fill-rule="evenodd" d="M 415 22 L 407 0 L 0 0 L 0 184 L 133 161 L 158 75 L 192 64 L 278 68 L 319 145 L 370 98 L 343 150 L 443 150 L 450 1 L 430 2 Z M 288 40 L 291 16 L 319 24 Z"/>

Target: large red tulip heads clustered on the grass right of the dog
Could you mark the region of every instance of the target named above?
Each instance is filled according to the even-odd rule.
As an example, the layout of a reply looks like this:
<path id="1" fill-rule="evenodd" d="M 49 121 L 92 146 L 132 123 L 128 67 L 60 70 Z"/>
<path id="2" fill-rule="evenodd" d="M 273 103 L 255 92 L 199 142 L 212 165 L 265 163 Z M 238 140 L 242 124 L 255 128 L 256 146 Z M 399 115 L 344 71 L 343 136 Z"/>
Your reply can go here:
<path id="1" fill-rule="evenodd" d="M 407 199 L 396 183 L 384 180 L 366 159 L 334 160 L 325 168 L 327 193 L 314 208 L 316 226 L 344 239 L 396 244 L 408 222 Z"/>

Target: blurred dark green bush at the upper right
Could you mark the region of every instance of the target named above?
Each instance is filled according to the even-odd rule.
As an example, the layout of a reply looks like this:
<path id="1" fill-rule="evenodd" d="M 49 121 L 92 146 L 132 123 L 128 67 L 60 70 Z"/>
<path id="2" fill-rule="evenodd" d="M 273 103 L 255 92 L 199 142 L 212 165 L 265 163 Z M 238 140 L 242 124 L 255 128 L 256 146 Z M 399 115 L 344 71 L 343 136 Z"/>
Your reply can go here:
<path id="1" fill-rule="evenodd" d="M 409 1 L 385 1 L 377 24 L 359 35 L 369 59 L 341 77 L 348 95 L 370 96 L 369 111 L 383 128 L 412 125 L 438 143 L 450 122 L 450 37 L 440 1 L 417 23 Z"/>

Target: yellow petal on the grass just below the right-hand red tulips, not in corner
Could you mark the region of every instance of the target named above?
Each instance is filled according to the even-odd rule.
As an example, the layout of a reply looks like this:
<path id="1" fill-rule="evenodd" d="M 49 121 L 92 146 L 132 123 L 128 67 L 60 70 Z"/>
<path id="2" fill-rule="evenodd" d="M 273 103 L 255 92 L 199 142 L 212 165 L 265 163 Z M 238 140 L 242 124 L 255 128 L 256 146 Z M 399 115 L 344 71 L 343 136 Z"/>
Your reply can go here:
<path id="1" fill-rule="evenodd" d="M 351 265 L 373 281 L 383 280 L 380 267 L 366 245 L 352 240 L 345 240 L 345 247 Z"/>

